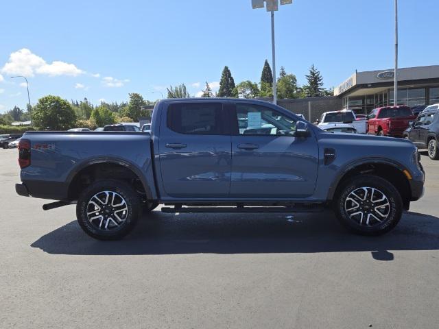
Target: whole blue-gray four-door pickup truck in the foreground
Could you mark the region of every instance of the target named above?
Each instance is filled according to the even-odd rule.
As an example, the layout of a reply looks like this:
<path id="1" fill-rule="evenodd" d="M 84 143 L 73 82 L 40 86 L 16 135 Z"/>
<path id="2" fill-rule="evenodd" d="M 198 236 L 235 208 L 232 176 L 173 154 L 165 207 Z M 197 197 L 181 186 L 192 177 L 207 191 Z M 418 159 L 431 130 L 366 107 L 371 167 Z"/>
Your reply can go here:
<path id="1" fill-rule="evenodd" d="M 76 204 L 82 229 L 120 239 L 142 212 L 314 212 L 388 232 L 424 190 L 410 141 L 324 132 L 248 99 L 166 99 L 150 132 L 27 132 L 19 195 Z"/>

